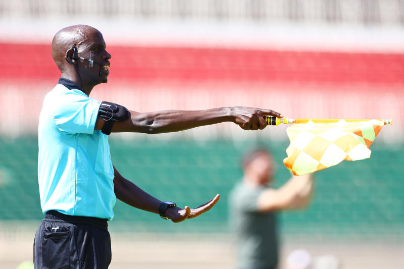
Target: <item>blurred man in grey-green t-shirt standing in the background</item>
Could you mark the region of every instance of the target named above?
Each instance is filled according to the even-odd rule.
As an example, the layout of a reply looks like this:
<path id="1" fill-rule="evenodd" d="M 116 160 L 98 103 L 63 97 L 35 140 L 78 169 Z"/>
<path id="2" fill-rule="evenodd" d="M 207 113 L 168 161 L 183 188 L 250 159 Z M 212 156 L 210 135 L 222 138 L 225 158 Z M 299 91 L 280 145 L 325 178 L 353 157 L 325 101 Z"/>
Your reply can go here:
<path id="1" fill-rule="evenodd" d="M 275 213 L 304 208 L 313 192 L 312 174 L 292 176 L 282 187 L 269 187 L 276 164 L 264 148 L 246 153 L 243 179 L 229 196 L 229 222 L 237 240 L 239 269 L 275 269 L 278 235 Z"/>

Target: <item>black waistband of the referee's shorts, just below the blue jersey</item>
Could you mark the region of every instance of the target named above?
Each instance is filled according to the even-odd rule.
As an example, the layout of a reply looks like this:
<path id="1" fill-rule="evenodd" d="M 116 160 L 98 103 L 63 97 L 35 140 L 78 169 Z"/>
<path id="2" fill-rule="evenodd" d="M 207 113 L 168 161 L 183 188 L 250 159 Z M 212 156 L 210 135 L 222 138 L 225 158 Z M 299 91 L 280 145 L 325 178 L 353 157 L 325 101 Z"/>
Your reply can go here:
<path id="1" fill-rule="evenodd" d="M 45 221 L 58 221 L 58 222 L 66 222 L 71 224 L 89 224 L 94 225 L 98 228 L 108 230 L 107 219 L 98 219 L 94 217 L 83 217 L 83 216 L 70 216 L 65 215 L 56 210 L 49 210 L 45 214 Z"/>

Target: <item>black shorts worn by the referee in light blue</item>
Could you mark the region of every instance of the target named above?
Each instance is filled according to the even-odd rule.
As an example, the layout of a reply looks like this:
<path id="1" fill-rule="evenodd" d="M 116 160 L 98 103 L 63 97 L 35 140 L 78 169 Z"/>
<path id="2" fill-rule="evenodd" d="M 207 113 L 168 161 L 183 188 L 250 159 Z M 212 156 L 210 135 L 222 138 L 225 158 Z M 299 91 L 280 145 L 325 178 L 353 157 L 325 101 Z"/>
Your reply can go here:
<path id="1" fill-rule="evenodd" d="M 35 269 L 106 269 L 110 262 L 106 219 L 46 213 L 35 234 Z"/>

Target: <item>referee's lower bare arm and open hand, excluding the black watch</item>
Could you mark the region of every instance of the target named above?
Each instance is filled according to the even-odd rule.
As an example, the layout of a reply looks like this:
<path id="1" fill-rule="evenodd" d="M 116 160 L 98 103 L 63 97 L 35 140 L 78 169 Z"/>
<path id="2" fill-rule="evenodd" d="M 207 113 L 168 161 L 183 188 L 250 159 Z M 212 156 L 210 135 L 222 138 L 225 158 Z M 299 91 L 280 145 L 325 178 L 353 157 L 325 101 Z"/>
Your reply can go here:
<path id="1" fill-rule="evenodd" d="M 114 175 L 114 192 L 119 200 L 145 211 L 159 213 L 159 206 L 161 203 L 159 199 L 151 196 L 131 181 L 122 177 L 115 167 Z M 169 207 L 166 209 L 165 214 L 172 222 L 182 222 L 185 221 L 185 219 L 195 218 L 200 214 L 205 213 L 211 209 L 217 201 L 219 201 L 219 198 L 220 195 L 218 194 L 215 198 L 194 209 L 191 209 L 188 206 L 185 206 L 184 208 Z"/>

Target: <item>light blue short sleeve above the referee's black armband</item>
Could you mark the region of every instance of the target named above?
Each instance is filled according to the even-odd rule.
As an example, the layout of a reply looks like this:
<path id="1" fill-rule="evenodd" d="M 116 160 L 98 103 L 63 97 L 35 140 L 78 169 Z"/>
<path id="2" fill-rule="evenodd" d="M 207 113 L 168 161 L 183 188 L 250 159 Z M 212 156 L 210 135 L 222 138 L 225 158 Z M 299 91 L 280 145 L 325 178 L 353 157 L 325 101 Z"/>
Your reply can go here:
<path id="1" fill-rule="evenodd" d="M 63 132 L 92 134 L 100 104 L 95 99 L 71 90 L 55 106 L 55 124 Z"/>

